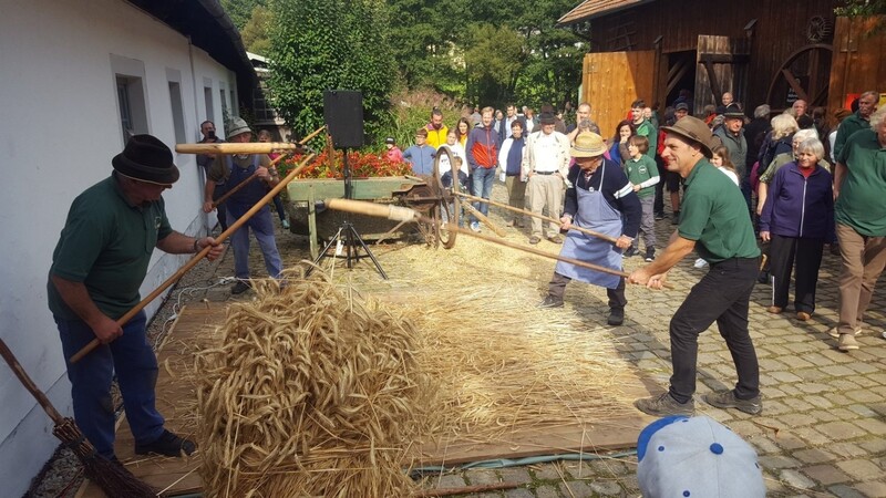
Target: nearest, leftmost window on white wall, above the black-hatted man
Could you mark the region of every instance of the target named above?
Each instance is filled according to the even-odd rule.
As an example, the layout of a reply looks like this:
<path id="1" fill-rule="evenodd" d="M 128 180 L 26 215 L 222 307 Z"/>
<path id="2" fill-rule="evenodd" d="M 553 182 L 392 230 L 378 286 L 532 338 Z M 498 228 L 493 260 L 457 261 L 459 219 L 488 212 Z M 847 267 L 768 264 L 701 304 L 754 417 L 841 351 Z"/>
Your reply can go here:
<path id="1" fill-rule="evenodd" d="M 132 135 L 151 133 L 145 92 L 145 64 L 137 59 L 110 54 L 111 71 L 116 89 L 121 138 L 125 144 Z"/>

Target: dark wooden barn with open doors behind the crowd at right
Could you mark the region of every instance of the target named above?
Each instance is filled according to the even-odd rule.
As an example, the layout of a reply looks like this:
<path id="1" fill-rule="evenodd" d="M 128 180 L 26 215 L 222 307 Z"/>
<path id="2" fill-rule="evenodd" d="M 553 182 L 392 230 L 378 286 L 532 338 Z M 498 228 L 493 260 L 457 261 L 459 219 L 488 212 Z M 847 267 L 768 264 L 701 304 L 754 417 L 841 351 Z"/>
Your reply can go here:
<path id="1" fill-rule="evenodd" d="M 749 112 L 763 103 L 779 112 L 797 98 L 811 107 L 828 106 L 830 97 L 842 103 L 844 93 L 884 86 L 886 64 L 879 61 L 884 39 L 858 37 L 862 22 L 837 20 L 837 0 L 585 0 L 564 14 L 559 25 L 590 41 L 581 100 L 593 103 L 594 118 L 608 134 L 638 96 L 664 108 L 681 91 L 689 91 L 692 112 L 700 114 L 705 105 L 719 104 L 723 92 L 731 92 Z M 845 79 L 847 64 L 858 66 L 852 60 L 858 59 L 859 45 L 866 46 L 868 59 L 864 64 L 868 73 L 857 75 L 861 90 L 852 84 L 841 87 L 841 94 L 830 92 L 835 60 L 844 59 Z"/>

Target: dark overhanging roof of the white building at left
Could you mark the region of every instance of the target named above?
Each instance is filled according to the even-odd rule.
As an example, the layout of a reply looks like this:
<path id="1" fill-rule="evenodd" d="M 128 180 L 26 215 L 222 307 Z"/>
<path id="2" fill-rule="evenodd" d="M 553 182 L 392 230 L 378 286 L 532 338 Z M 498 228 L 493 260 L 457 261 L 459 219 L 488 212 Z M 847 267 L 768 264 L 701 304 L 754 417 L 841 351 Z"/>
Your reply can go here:
<path id="1" fill-rule="evenodd" d="M 256 73 L 246 55 L 240 33 L 218 0 L 127 0 L 237 74 L 240 105 L 253 108 Z"/>

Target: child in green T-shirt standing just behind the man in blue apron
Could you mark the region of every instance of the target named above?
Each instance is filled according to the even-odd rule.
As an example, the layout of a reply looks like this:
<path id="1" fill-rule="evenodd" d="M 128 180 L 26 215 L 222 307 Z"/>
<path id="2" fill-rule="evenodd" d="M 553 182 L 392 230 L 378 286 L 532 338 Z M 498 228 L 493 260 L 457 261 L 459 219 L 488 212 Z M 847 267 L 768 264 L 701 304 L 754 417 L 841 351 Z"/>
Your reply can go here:
<path id="1" fill-rule="evenodd" d="M 652 261 L 656 258 L 656 229 L 652 214 L 652 203 L 656 198 L 656 184 L 659 181 L 658 167 L 656 162 L 646 155 L 649 151 L 649 138 L 641 135 L 633 135 L 628 138 L 628 154 L 630 159 L 625 163 L 625 173 L 628 180 L 633 186 L 633 191 L 640 198 L 642 216 L 640 218 L 640 232 L 646 245 L 646 260 Z M 637 237 L 639 239 L 639 236 Z M 639 241 L 633 239 L 631 246 L 625 251 L 625 257 L 636 255 Z"/>

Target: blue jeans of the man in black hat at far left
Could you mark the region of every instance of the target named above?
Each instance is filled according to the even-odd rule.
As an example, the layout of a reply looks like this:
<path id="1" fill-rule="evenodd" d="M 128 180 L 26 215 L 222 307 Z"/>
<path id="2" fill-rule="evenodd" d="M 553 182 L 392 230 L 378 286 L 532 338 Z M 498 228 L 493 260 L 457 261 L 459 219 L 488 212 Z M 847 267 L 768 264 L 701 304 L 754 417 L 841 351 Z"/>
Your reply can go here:
<path id="1" fill-rule="evenodd" d="M 164 419 L 155 407 L 157 357 L 145 335 L 145 312 L 123 325 L 122 336 L 100 345 L 74 364 L 68 359 L 95 339 L 95 334 L 80 320 L 53 318 L 68 364 L 74 421 L 96 452 L 105 458 L 114 456 L 111 381 L 115 372 L 135 444 L 155 442 L 163 434 Z"/>

